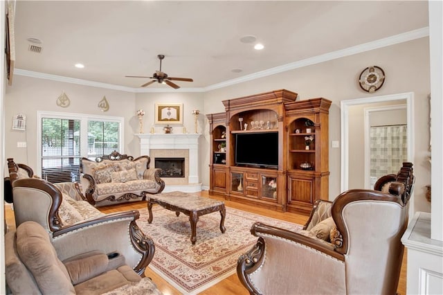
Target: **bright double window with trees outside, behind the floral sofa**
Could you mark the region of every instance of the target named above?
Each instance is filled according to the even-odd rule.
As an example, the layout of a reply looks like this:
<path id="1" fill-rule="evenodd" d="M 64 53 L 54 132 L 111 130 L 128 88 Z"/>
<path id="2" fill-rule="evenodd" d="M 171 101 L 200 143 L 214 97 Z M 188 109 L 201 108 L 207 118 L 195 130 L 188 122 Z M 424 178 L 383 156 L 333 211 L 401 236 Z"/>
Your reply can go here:
<path id="1" fill-rule="evenodd" d="M 124 153 L 123 118 L 37 112 L 38 159 L 43 179 L 80 181 L 80 159 Z"/>

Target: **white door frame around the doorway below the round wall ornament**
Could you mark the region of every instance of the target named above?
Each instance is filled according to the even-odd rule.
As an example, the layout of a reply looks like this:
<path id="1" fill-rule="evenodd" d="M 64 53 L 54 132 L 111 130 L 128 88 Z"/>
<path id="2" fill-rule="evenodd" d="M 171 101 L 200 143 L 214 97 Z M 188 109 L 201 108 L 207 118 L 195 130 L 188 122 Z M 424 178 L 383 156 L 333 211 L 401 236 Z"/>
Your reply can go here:
<path id="1" fill-rule="evenodd" d="M 395 100 L 406 100 L 406 121 L 408 125 L 408 161 L 414 159 L 414 93 L 396 93 L 387 96 L 372 96 L 367 98 L 355 98 L 350 100 L 341 100 L 340 102 L 340 137 L 341 137 L 341 173 L 340 190 L 344 192 L 349 186 L 349 107 L 353 105 L 366 105 L 374 102 L 386 102 Z M 412 203 L 412 202 L 410 202 Z M 413 209 L 413 208 L 411 208 Z M 413 211 L 412 211 L 413 212 Z"/>

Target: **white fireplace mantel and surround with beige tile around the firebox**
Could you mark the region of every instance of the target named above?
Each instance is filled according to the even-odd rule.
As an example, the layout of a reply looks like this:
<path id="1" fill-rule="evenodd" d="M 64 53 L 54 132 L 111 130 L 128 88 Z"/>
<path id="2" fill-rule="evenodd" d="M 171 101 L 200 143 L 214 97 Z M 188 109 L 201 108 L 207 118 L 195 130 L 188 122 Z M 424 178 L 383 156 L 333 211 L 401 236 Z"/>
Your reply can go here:
<path id="1" fill-rule="evenodd" d="M 162 178 L 165 181 L 163 193 L 179 190 L 195 193 L 201 190 L 199 181 L 199 137 L 201 134 L 135 134 L 140 138 L 140 154 L 151 158 L 185 158 L 185 177 Z"/>

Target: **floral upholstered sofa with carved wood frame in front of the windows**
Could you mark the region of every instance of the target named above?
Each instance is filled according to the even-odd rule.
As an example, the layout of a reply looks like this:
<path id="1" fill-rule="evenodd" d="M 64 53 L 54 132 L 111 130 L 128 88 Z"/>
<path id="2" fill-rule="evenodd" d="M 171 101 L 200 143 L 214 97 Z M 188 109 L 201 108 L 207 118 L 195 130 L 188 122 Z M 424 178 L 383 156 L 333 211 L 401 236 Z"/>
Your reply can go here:
<path id="1" fill-rule="evenodd" d="M 82 193 L 94 206 L 145 200 L 165 188 L 161 169 L 149 166 L 149 156 L 134 159 L 116 151 L 96 161 L 82 158 Z"/>

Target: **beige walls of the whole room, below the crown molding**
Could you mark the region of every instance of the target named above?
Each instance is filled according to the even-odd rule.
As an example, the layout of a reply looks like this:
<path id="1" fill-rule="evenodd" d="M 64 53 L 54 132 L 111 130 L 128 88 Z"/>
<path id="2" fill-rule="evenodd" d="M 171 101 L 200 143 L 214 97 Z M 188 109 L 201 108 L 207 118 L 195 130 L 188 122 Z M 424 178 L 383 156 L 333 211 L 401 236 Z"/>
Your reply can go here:
<path id="1" fill-rule="evenodd" d="M 294 48 L 296 51 L 296 48 Z M 386 72 L 386 82 L 377 93 L 365 93 L 357 84 L 358 75 L 366 66 L 378 65 Z M 224 111 L 221 100 L 247 96 L 274 89 L 288 89 L 299 94 L 300 100 L 324 97 L 332 100 L 329 109 L 329 199 L 334 199 L 340 193 L 340 149 L 332 148 L 331 141 L 340 141 L 340 101 L 369 96 L 383 96 L 393 93 L 414 92 L 414 127 L 415 127 L 415 210 L 430 211 L 430 206 L 424 197 L 426 185 L 430 181 L 430 167 L 426 165 L 428 152 L 428 94 L 429 85 L 429 47 L 428 38 L 422 38 L 367 51 L 348 57 L 343 57 L 320 64 L 305 66 L 300 69 L 278 73 L 249 82 L 235 84 L 203 93 L 186 93 L 171 91 L 170 93 L 125 93 L 93 87 L 84 87 L 74 84 L 51 82 L 33 78 L 15 77 L 13 87 L 8 87 L 6 95 L 6 122 L 11 122 L 13 114 L 23 111 L 34 118 L 35 111 L 69 111 L 89 112 L 100 114 L 96 108 L 98 100 L 106 95 L 111 104 L 107 115 L 124 116 L 128 126 L 125 128 L 126 151 L 137 155 L 138 139 L 134 133 L 138 132 L 135 110 L 143 108 L 147 111 L 144 118 L 145 132 L 149 132 L 154 122 L 155 103 L 180 103 L 184 106 L 183 124 L 188 132 L 193 132 L 193 116 L 191 110 L 195 107 L 201 110 L 199 116 L 199 132 L 201 136 L 201 153 L 199 170 L 201 182 L 209 184 L 209 130 L 206 114 Z M 78 102 L 67 110 L 55 105 L 55 99 L 66 91 L 71 98 Z M 17 100 L 17 101 L 16 101 Z M 115 105 L 117 107 L 112 109 Z M 31 119 L 32 120 L 32 119 Z M 156 127 L 161 132 L 162 127 Z M 181 133 L 181 127 L 175 127 L 174 132 Z M 35 163 L 35 134 L 28 133 L 28 163 Z M 26 161 L 24 151 L 15 147 L 21 141 L 23 134 L 16 134 L 6 128 L 6 157 L 18 157 L 19 161 Z M 352 171 L 350 171 L 352 173 Z"/>

